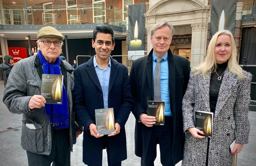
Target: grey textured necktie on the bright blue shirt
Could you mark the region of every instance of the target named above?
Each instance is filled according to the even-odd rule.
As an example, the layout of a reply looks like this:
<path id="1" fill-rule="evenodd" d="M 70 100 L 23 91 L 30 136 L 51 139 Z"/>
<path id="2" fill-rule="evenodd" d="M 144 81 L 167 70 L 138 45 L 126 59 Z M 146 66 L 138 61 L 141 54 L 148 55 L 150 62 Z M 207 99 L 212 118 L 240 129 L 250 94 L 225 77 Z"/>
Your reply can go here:
<path id="1" fill-rule="evenodd" d="M 161 61 L 163 58 L 157 58 L 154 71 L 154 101 L 161 101 Z"/>

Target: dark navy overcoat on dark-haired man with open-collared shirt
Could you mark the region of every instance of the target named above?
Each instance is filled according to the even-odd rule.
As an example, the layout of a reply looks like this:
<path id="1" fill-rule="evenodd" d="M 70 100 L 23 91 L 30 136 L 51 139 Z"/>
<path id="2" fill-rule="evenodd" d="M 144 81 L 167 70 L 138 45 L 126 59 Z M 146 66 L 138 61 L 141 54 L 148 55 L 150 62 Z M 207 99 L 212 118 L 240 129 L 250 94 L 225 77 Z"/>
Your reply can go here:
<path id="1" fill-rule="evenodd" d="M 74 71 L 74 109 L 86 131 L 83 139 L 83 162 L 87 165 L 101 165 L 104 138 L 91 136 L 88 129 L 91 123 L 95 124 L 95 109 L 104 108 L 103 93 L 93 58 L 94 56 Z M 112 58 L 110 61 L 108 107 L 114 108 L 115 123 L 120 125 L 121 131 L 115 136 L 104 137 L 109 142 L 110 160 L 119 162 L 127 158 L 125 123 L 132 109 L 132 96 L 127 67 Z"/>

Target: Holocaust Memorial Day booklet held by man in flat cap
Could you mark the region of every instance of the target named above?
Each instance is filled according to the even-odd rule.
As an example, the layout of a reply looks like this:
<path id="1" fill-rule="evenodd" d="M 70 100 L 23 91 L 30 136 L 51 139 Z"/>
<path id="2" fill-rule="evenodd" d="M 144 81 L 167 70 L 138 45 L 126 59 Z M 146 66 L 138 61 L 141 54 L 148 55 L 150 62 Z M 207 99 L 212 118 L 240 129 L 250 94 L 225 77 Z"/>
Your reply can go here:
<path id="1" fill-rule="evenodd" d="M 41 96 L 47 104 L 62 104 L 63 75 L 42 74 Z"/>

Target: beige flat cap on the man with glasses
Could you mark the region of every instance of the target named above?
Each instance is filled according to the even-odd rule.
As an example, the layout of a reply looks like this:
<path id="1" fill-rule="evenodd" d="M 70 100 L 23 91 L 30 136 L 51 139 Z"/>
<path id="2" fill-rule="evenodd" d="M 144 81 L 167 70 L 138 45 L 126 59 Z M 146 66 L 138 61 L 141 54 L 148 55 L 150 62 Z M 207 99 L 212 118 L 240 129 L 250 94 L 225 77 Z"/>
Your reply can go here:
<path id="1" fill-rule="evenodd" d="M 45 26 L 38 31 L 37 39 L 43 37 L 57 37 L 60 38 L 61 41 L 64 40 L 64 36 L 58 30 L 51 26 Z"/>

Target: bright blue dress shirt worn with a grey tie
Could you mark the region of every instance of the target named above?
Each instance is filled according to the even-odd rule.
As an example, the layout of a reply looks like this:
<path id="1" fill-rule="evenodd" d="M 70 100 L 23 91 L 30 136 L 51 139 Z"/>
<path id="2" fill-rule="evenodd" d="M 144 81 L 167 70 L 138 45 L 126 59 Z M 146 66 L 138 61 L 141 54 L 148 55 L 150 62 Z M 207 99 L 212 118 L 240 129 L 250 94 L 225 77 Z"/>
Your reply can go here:
<path id="1" fill-rule="evenodd" d="M 169 85 L 168 85 L 168 78 L 169 78 L 169 69 L 168 69 L 168 53 L 166 53 L 162 58 L 161 61 L 161 99 L 165 101 L 165 109 L 164 109 L 164 116 L 171 116 L 171 107 L 170 107 L 170 97 L 169 97 Z M 156 59 L 158 57 L 153 52 L 153 84 L 154 84 L 154 71 L 155 65 L 157 63 Z"/>

